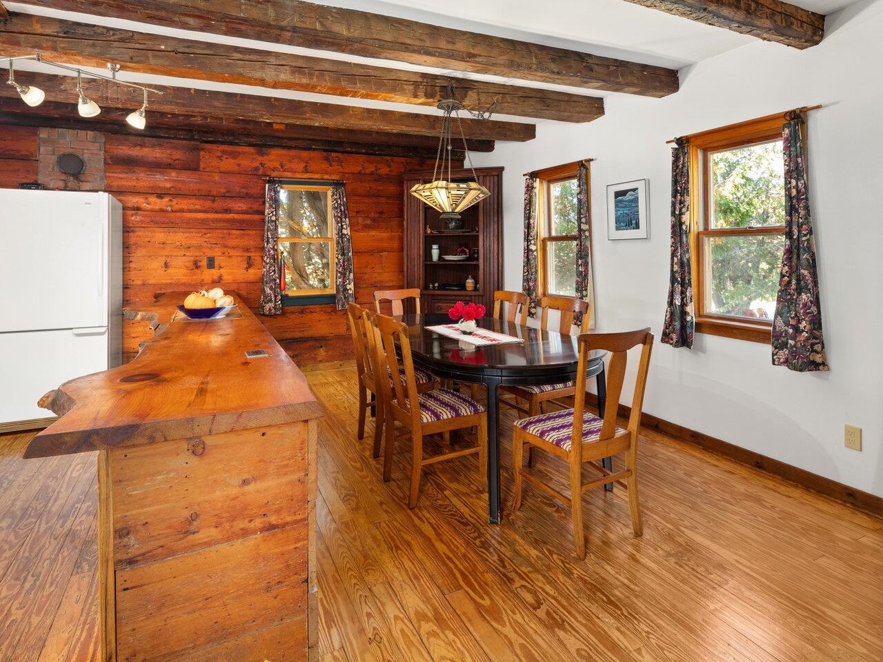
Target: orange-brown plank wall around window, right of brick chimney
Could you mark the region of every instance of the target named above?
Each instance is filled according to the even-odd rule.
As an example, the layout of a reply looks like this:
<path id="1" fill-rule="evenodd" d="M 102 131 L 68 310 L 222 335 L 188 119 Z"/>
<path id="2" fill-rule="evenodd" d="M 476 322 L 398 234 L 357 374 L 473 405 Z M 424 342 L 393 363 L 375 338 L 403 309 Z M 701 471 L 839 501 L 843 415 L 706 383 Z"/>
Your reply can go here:
<path id="1" fill-rule="evenodd" d="M 108 192 L 124 207 L 125 304 L 157 290 L 218 284 L 246 305 L 260 299 L 264 177 L 343 179 L 350 209 L 359 303 L 374 290 L 402 287 L 402 173 L 426 159 L 236 147 L 186 140 L 106 136 Z M 206 258 L 215 257 L 215 268 Z M 343 311 L 334 305 L 286 307 L 262 322 L 298 364 L 351 358 Z M 132 357 L 143 324 L 127 322 Z"/>

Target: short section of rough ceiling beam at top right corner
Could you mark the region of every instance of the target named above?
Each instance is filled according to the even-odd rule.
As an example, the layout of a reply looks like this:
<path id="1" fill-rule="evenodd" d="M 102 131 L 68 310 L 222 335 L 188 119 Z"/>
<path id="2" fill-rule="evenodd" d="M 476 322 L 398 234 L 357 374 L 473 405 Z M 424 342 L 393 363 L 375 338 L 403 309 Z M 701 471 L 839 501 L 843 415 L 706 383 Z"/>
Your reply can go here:
<path id="1" fill-rule="evenodd" d="M 825 36 L 825 17 L 781 0 L 627 0 L 667 14 L 725 27 L 796 49 L 815 46 Z"/>

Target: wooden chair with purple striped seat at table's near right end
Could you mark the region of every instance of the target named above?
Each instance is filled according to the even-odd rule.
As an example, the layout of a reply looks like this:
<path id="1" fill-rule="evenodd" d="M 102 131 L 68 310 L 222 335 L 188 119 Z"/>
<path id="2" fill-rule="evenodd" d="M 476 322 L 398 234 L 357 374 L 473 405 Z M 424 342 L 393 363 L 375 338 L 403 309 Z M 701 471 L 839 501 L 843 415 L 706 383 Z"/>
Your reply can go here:
<path id="1" fill-rule="evenodd" d="M 628 427 L 616 425 L 616 412 L 619 396 L 623 391 L 625 366 L 628 351 L 641 345 L 641 357 L 635 379 L 635 392 L 631 400 L 631 413 Z M 592 487 L 600 487 L 611 482 L 618 483 L 628 490 L 631 527 L 635 537 L 644 532 L 638 504 L 638 427 L 641 423 L 641 408 L 644 404 L 644 390 L 647 381 L 647 368 L 650 365 L 650 352 L 653 349 L 653 334 L 649 328 L 620 334 L 583 334 L 579 336 L 579 362 L 577 367 L 577 391 L 572 410 L 559 410 L 515 422 L 512 433 L 512 466 L 515 471 L 515 500 L 513 511 L 521 508 L 522 480 L 539 487 L 555 499 L 570 506 L 573 518 L 573 543 L 577 557 L 585 559 L 585 537 L 583 536 L 583 493 Z M 604 418 L 594 416 L 585 409 L 585 372 L 592 350 L 607 350 L 610 353 L 608 365 L 607 403 Z M 523 466 L 524 446 L 540 448 L 547 453 L 562 458 L 570 464 L 570 498 L 558 493 L 543 483 L 530 470 Z M 625 454 L 625 468 L 612 472 L 598 463 L 605 457 Z M 583 464 L 600 471 L 601 477 L 583 483 Z M 623 480 L 626 481 L 623 483 Z"/>

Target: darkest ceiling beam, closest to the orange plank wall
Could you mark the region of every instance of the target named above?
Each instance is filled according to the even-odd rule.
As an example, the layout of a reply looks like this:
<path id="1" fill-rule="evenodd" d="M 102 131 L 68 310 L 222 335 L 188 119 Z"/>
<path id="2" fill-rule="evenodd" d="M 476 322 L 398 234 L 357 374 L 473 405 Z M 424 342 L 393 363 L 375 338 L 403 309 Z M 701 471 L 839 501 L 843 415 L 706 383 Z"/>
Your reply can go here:
<path id="1" fill-rule="evenodd" d="M 36 108 L 24 107 L 16 99 L 0 97 L 0 124 L 26 126 L 50 126 L 65 129 L 82 129 L 105 133 L 121 133 L 150 138 L 196 140 L 223 145 L 250 147 L 289 147 L 321 152 L 344 152 L 348 154 L 376 154 L 381 156 L 408 156 L 434 159 L 436 147 L 414 144 L 422 136 L 399 136 L 378 134 L 370 139 L 366 132 L 334 132 L 327 136 L 310 136 L 301 127 L 265 122 L 230 120 L 223 117 L 185 116 L 171 113 L 152 113 L 150 123 L 141 131 L 123 121 L 131 109 L 102 109 L 99 117 L 84 118 L 71 112 L 70 104 L 44 102 Z M 115 117 L 116 116 L 116 117 Z M 313 127 L 307 127 L 313 128 Z M 494 148 L 490 141 L 474 141 L 473 151 L 489 152 Z M 463 158 L 462 151 L 454 159 Z"/>

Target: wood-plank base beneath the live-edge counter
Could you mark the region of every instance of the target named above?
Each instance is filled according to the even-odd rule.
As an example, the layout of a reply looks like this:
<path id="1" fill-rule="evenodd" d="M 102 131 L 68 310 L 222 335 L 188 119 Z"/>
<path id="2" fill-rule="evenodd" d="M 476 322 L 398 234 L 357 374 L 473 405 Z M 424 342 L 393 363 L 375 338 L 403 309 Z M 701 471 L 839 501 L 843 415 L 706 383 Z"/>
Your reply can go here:
<path id="1" fill-rule="evenodd" d="M 316 425 L 99 452 L 106 662 L 306 660 Z"/>

